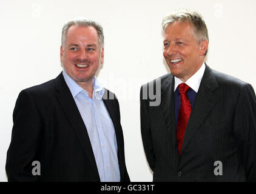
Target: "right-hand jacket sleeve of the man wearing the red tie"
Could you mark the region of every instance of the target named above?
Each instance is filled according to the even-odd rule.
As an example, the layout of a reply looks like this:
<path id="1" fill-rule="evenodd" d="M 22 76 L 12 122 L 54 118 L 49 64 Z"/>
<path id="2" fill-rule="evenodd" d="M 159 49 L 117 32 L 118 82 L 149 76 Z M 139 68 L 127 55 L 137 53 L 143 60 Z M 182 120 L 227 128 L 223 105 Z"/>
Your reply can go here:
<path id="1" fill-rule="evenodd" d="M 256 181 L 256 98 L 250 84 L 241 87 L 234 115 L 234 133 L 247 181 Z"/>

